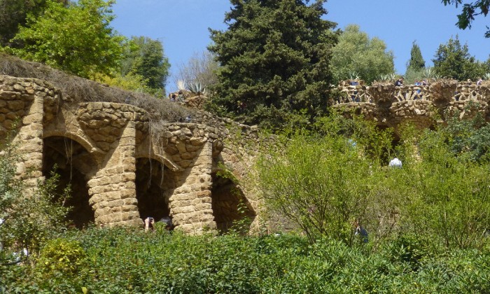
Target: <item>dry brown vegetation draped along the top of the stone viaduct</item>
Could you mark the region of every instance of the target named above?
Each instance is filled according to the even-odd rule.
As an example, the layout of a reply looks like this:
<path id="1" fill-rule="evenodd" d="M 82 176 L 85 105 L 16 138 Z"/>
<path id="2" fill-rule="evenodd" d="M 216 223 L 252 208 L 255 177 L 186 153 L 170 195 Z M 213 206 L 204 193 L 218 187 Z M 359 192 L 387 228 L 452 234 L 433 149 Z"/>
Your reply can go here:
<path id="1" fill-rule="evenodd" d="M 38 62 L 27 62 L 0 52 L 0 74 L 18 78 L 38 78 L 45 80 L 59 90 L 63 97 L 73 103 L 116 102 L 138 106 L 148 111 L 153 122 L 179 122 L 187 116 L 195 116 L 193 109 L 168 99 L 157 99 L 151 94 L 132 92 L 118 87 L 109 87 L 93 80 L 52 69 Z M 127 99 L 129 97 L 129 99 Z"/>

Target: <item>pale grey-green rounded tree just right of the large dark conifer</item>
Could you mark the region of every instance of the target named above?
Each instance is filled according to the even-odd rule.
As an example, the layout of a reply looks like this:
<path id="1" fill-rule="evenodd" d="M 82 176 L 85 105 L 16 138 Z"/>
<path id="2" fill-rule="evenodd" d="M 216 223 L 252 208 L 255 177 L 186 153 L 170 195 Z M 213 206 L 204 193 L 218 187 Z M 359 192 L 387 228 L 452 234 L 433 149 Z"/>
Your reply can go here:
<path id="1" fill-rule="evenodd" d="M 393 52 L 379 38 L 370 38 L 358 25 L 348 25 L 332 50 L 331 68 L 335 81 L 359 76 L 367 83 L 392 73 Z"/>

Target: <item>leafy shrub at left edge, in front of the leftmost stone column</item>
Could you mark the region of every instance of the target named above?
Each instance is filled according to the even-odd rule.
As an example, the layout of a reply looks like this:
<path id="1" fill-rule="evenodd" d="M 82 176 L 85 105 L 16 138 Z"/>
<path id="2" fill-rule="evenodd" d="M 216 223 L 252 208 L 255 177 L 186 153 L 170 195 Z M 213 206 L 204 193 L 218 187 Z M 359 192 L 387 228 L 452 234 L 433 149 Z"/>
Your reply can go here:
<path id="1" fill-rule="evenodd" d="M 44 241 L 65 228 L 64 217 L 68 212 L 62 202 L 68 197 L 55 195 L 58 176 L 53 175 L 37 190 L 25 186 L 15 175 L 18 162 L 15 146 L 7 144 L 0 156 L 0 243 L 6 248 L 30 253 L 38 251 Z M 0 251 L 0 263 L 10 259 Z"/>

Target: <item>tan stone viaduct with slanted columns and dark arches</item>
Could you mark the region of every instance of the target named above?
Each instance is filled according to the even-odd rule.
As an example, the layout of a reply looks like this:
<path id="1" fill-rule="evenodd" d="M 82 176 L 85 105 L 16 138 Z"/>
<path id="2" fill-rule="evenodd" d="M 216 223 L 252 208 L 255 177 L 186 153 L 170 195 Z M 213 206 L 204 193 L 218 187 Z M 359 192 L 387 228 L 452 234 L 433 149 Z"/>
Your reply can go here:
<path id="1" fill-rule="evenodd" d="M 176 229 L 199 234 L 257 215 L 253 193 L 230 179 L 248 174 L 260 143 L 256 127 L 151 124 L 136 106 L 73 104 L 43 80 L 0 76 L 0 139 L 10 133 L 29 186 L 54 167 L 60 186 L 71 183 L 69 219 L 78 228 L 171 216 Z M 221 176 L 223 167 L 234 176 Z"/>

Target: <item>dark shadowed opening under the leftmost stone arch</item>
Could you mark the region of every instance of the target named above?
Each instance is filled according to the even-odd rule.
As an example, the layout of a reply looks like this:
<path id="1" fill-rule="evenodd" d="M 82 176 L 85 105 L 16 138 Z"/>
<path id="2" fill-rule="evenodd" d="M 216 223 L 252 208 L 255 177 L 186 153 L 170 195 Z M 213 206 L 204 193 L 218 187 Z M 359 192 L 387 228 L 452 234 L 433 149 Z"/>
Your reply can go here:
<path id="1" fill-rule="evenodd" d="M 97 162 L 78 141 L 62 136 L 43 139 L 43 176 L 50 179 L 52 172 L 59 175 L 57 193 L 71 186 L 71 197 L 64 205 L 72 207 L 66 218 L 76 228 L 84 228 L 94 222 L 87 181 L 95 169 Z"/>

